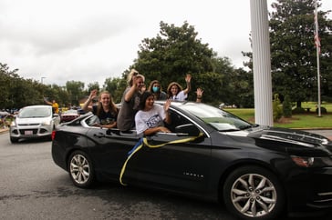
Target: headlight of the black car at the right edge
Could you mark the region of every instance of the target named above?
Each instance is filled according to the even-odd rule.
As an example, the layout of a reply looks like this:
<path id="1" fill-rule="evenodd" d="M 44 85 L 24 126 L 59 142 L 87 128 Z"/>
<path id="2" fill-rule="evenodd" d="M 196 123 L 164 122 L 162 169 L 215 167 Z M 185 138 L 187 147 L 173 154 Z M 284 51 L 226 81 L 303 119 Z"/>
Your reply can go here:
<path id="1" fill-rule="evenodd" d="M 314 156 L 298 156 L 291 155 L 296 165 L 302 167 L 324 167 L 332 166 L 332 156 L 314 157 Z"/>

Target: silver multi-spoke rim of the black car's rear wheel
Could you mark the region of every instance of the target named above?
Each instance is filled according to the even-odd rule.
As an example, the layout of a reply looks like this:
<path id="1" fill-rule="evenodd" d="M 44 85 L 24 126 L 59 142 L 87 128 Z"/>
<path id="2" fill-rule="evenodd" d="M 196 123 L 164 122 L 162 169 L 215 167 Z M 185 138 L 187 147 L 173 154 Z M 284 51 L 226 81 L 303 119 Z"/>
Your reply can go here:
<path id="1" fill-rule="evenodd" d="M 89 176 L 88 160 L 83 155 L 74 155 L 70 161 L 70 174 L 80 185 L 87 183 Z"/>

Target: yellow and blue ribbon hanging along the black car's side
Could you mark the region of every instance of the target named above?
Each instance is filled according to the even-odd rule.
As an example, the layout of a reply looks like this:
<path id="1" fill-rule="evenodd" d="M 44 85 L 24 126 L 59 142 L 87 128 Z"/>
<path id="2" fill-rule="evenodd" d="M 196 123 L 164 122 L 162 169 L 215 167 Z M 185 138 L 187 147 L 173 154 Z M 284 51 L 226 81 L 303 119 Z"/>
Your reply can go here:
<path id="1" fill-rule="evenodd" d="M 186 143 L 186 142 L 191 142 L 199 137 L 202 136 L 202 133 L 200 133 L 199 135 L 197 136 L 191 136 L 191 137 L 188 137 L 188 138 L 184 138 L 184 139 L 181 139 L 181 140 L 175 140 L 175 141 L 170 141 L 170 142 L 166 142 L 166 143 L 163 143 L 161 145 L 150 145 L 148 143 L 148 139 L 146 137 L 142 137 L 140 138 L 139 142 L 130 150 L 130 152 L 128 153 L 128 157 L 127 157 L 127 160 L 125 161 L 125 163 L 122 165 L 122 169 L 121 169 L 121 173 L 119 175 L 119 183 L 121 185 L 126 185 L 122 182 L 122 176 L 126 170 L 126 166 L 128 164 L 128 161 L 130 160 L 131 156 L 132 155 L 135 155 L 142 147 L 143 145 L 147 145 L 148 147 L 150 148 L 157 148 L 157 147 L 161 147 L 163 145 L 173 145 L 173 144 L 179 144 L 179 143 Z"/>

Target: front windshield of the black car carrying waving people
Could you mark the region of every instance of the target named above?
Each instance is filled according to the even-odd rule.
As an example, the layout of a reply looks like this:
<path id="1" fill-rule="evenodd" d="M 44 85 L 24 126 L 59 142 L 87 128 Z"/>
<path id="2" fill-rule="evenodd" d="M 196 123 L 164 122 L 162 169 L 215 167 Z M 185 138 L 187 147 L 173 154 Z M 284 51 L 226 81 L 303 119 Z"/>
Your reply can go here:
<path id="1" fill-rule="evenodd" d="M 182 105 L 181 108 L 218 131 L 237 131 L 253 127 L 243 119 L 211 105 Z"/>

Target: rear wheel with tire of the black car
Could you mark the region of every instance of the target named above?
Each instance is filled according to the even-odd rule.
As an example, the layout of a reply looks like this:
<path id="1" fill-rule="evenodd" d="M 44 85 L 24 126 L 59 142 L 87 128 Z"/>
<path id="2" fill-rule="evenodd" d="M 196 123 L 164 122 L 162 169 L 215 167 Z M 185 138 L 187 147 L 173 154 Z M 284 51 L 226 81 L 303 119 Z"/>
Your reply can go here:
<path id="1" fill-rule="evenodd" d="M 74 151 L 68 159 L 68 173 L 74 185 L 89 188 L 95 182 L 94 169 L 90 157 L 83 151 Z"/>

